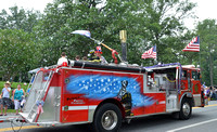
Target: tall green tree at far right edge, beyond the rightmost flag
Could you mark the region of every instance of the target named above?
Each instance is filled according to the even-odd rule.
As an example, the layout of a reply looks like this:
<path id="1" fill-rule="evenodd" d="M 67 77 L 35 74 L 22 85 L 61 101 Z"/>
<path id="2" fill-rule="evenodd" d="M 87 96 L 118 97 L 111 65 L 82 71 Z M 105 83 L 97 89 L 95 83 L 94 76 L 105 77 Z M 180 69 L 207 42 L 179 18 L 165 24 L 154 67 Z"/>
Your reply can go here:
<path id="1" fill-rule="evenodd" d="M 207 85 L 217 83 L 217 25 L 215 19 L 204 19 L 196 27 L 196 32 L 201 37 L 201 65 L 203 81 Z"/>

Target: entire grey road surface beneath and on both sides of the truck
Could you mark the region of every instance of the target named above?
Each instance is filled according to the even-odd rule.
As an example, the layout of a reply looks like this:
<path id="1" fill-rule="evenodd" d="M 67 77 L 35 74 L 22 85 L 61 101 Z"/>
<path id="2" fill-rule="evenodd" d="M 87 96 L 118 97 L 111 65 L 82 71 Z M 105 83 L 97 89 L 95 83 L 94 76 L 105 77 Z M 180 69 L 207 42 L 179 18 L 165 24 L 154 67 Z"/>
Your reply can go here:
<path id="1" fill-rule="evenodd" d="M 204 108 L 194 107 L 189 120 L 178 120 L 170 115 L 157 115 L 132 119 L 123 123 L 119 132 L 217 132 L 217 101 L 210 101 Z M 15 128 L 16 130 L 18 127 Z M 21 132 L 90 132 L 90 126 L 64 126 L 38 128 L 25 124 Z M 9 122 L 0 123 L 0 132 L 13 132 Z"/>

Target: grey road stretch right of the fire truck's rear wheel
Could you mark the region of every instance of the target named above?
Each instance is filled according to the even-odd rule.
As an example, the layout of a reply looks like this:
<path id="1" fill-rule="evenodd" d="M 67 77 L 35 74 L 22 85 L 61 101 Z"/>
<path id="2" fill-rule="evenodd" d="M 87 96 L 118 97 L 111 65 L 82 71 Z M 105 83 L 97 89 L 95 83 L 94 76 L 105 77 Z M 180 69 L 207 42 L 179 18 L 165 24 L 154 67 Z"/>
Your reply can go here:
<path id="1" fill-rule="evenodd" d="M 194 107 L 189 120 L 178 120 L 169 115 L 151 116 L 132 120 L 120 132 L 217 132 L 217 101 L 204 108 Z M 208 129 L 207 129 L 208 128 Z"/>

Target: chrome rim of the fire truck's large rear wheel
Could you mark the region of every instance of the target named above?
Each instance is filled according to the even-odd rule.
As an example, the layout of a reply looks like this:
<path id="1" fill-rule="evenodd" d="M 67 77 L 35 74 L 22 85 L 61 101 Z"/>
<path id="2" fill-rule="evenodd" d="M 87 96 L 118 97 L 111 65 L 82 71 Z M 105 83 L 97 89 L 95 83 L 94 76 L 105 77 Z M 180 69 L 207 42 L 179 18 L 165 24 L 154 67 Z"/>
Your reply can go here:
<path id="1" fill-rule="evenodd" d="M 117 114 L 114 110 L 106 110 L 102 118 L 101 123 L 105 130 L 113 130 L 117 126 Z"/>

